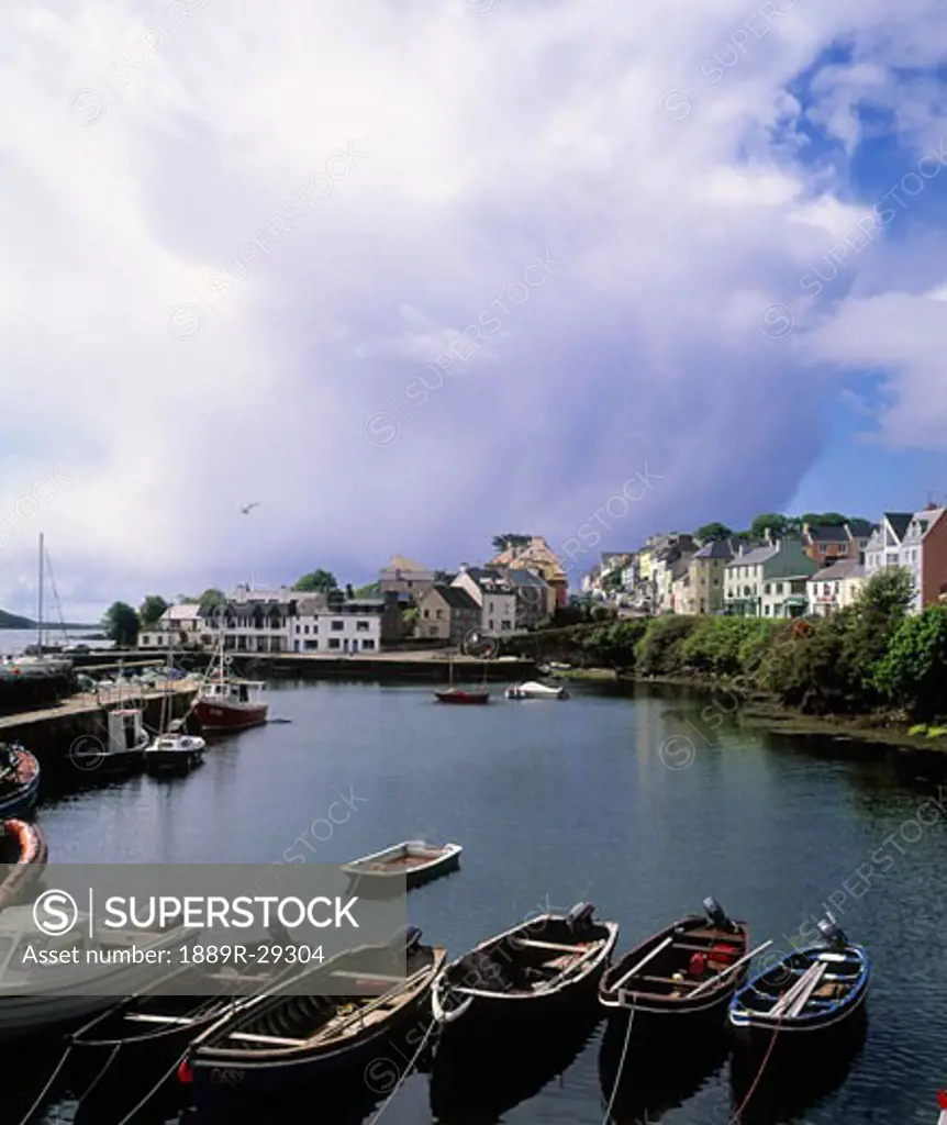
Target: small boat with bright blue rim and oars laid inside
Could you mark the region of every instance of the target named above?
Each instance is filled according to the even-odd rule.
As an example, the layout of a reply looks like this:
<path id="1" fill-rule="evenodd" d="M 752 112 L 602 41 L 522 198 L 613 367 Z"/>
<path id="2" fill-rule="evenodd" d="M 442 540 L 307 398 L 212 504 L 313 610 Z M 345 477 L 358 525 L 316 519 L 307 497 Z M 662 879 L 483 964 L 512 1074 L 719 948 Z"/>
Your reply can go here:
<path id="1" fill-rule="evenodd" d="M 822 945 L 787 954 L 731 1000 L 730 1024 L 745 1047 L 821 1050 L 830 1033 L 853 1026 L 854 1017 L 864 1014 L 872 975 L 868 954 L 849 944 L 832 915 L 818 928 Z"/>

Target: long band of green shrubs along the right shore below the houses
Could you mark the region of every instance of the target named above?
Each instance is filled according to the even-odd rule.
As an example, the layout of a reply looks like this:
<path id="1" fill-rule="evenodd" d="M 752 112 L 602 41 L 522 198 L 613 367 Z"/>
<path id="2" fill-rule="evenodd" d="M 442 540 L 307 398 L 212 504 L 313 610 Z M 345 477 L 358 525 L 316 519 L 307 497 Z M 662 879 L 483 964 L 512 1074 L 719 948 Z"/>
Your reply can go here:
<path id="1" fill-rule="evenodd" d="M 947 748 L 947 606 L 909 613 L 912 598 L 910 575 L 894 569 L 826 618 L 666 614 L 540 632 L 530 648 L 621 677 L 727 687 L 768 702 L 774 717 Z"/>

